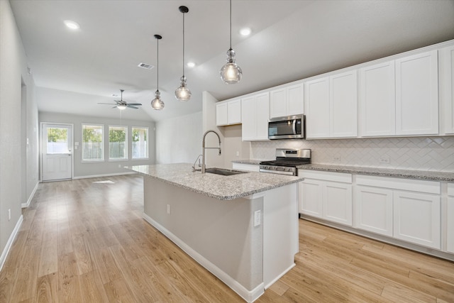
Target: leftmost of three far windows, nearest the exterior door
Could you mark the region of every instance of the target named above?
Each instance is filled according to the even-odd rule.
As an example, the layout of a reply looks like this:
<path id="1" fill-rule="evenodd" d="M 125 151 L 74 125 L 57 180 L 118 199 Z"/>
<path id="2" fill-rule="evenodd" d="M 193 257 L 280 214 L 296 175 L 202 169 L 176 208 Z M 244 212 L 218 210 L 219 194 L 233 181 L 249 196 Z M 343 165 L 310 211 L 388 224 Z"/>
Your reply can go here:
<path id="1" fill-rule="evenodd" d="M 102 125 L 82 124 L 82 161 L 104 161 Z"/>

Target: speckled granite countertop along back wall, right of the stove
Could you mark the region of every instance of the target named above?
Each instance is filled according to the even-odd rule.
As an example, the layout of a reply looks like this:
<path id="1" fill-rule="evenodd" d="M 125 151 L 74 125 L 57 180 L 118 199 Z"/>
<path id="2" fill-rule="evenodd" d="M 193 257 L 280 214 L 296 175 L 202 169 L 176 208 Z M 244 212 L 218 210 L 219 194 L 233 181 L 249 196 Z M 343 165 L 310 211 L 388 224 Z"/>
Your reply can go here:
<path id="1" fill-rule="evenodd" d="M 399 177 L 416 180 L 454 182 L 454 172 L 433 172 L 429 170 L 399 170 L 395 168 L 357 167 L 343 165 L 306 164 L 299 165 L 299 170 L 321 170 L 325 172 L 346 172 L 357 175 L 380 177 Z"/>

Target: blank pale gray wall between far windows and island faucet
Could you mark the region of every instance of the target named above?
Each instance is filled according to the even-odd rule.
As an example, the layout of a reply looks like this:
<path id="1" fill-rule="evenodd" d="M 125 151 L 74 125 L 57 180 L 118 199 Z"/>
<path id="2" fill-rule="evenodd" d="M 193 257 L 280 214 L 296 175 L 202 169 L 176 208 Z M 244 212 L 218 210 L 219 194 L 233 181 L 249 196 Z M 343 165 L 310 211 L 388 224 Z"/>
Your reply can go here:
<path id="1" fill-rule="evenodd" d="M 202 113 L 156 123 L 156 162 L 194 163 L 201 154 Z"/>

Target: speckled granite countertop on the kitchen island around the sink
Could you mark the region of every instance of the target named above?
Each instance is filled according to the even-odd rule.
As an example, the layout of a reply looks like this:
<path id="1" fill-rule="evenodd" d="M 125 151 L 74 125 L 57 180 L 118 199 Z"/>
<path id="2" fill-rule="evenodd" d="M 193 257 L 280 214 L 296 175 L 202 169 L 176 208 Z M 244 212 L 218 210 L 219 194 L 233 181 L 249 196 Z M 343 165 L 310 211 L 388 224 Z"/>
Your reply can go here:
<path id="1" fill-rule="evenodd" d="M 303 180 L 302 177 L 260 172 L 231 176 L 209 172 L 201 174 L 192 172 L 192 165 L 189 163 L 134 165 L 125 168 L 219 200 L 237 199 Z"/>

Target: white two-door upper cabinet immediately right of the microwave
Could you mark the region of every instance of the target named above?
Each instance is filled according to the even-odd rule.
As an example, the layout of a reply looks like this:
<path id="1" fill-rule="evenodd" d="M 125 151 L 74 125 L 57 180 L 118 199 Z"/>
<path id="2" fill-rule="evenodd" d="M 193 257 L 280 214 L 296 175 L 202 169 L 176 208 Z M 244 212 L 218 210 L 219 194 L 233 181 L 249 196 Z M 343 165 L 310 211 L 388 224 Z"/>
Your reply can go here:
<path id="1" fill-rule="evenodd" d="M 305 83 L 306 138 L 353 138 L 357 131 L 357 71 Z"/>

